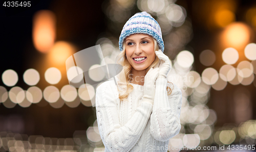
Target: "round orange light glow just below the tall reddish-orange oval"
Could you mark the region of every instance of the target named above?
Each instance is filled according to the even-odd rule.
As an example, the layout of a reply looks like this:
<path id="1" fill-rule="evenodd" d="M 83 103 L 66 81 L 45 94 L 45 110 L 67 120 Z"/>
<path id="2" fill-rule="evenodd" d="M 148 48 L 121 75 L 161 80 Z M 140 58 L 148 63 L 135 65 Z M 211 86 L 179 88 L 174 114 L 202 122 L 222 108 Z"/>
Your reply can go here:
<path id="1" fill-rule="evenodd" d="M 75 47 L 68 42 L 58 41 L 50 49 L 50 61 L 54 64 L 65 65 L 66 60 L 75 53 Z"/>

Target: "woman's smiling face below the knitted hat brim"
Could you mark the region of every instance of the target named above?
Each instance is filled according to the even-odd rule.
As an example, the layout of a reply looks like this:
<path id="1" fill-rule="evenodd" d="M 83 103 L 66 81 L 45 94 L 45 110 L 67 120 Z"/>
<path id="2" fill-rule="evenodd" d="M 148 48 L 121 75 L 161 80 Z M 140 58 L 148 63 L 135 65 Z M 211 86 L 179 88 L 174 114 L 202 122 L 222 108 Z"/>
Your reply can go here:
<path id="1" fill-rule="evenodd" d="M 144 70 L 154 62 L 156 54 L 152 36 L 133 34 L 126 37 L 124 42 L 126 58 L 135 70 Z"/>

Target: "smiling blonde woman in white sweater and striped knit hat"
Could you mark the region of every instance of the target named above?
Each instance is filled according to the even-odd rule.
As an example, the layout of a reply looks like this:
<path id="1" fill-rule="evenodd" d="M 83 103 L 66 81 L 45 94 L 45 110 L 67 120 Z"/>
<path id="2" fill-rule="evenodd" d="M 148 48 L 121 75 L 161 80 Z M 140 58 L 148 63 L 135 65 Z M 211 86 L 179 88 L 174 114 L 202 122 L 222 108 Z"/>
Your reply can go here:
<path id="1" fill-rule="evenodd" d="M 163 54 L 159 24 L 146 12 L 136 13 L 122 29 L 119 48 L 116 61 L 123 66 L 125 80 L 118 86 L 106 81 L 96 90 L 105 151 L 167 151 L 169 139 L 181 129 L 182 94 L 166 78 L 170 62 Z"/>

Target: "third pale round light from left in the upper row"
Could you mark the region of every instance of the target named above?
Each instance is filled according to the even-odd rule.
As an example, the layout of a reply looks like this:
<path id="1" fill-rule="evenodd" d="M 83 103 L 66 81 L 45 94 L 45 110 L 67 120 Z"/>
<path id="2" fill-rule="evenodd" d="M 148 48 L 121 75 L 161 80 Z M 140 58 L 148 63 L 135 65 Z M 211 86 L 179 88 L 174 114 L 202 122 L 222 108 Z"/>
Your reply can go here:
<path id="1" fill-rule="evenodd" d="M 61 79 L 61 73 L 56 67 L 50 67 L 45 72 L 45 79 L 49 84 L 57 84 Z"/>

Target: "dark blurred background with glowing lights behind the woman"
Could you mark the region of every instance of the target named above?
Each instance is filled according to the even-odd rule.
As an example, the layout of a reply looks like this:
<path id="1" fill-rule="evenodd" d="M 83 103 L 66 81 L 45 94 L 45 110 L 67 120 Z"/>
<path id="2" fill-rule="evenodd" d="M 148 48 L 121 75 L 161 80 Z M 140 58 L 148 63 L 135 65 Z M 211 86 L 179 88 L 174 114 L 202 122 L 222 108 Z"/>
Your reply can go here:
<path id="1" fill-rule="evenodd" d="M 104 150 L 95 107 L 69 86 L 65 62 L 100 44 L 114 63 L 124 23 L 142 11 L 159 22 L 168 79 L 182 89 L 182 130 L 169 145 L 256 143 L 255 1 L 1 3 L 0 151 Z"/>

